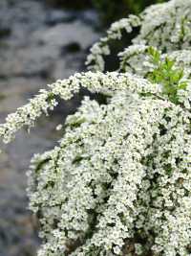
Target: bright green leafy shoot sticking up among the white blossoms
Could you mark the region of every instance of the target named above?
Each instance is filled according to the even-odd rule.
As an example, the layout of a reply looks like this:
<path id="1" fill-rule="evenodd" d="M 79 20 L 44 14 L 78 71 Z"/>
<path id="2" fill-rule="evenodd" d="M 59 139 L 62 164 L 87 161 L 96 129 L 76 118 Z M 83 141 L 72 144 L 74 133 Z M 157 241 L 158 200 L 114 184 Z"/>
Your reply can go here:
<path id="1" fill-rule="evenodd" d="M 162 59 L 159 51 L 153 47 L 148 48 L 148 56 L 154 69 L 149 72 L 147 78 L 152 82 L 160 83 L 163 86 L 163 94 L 167 95 L 171 102 L 178 104 L 178 91 L 187 86 L 186 81 L 182 81 L 183 68 L 176 68 L 174 59 L 168 57 Z"/>

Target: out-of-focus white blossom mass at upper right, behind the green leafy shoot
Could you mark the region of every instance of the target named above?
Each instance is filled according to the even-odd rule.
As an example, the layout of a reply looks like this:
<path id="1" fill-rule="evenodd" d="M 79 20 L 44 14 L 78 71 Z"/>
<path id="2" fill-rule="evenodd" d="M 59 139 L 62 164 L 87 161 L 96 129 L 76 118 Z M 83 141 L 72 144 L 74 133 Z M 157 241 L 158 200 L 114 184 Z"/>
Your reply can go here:
<path id="1" fill-rule="evenodd" d="M 121 40 L 124 33 L 132 33 L 139 28 L 133 39 L 130 51 L 142 50 L 144 45 L 152 45 L 169 53 L 176 50 L 191 49 L 191 3 L 190 0 L 171 0 L 147 8 L 139 16 L 131 15 L 121 19 L 91 49 L 87 65 L 92 70 L 105 70 L 104 56 L 111 54 L 110 42 Z M 120 54 L 119 54 L 120 55 Z"/>

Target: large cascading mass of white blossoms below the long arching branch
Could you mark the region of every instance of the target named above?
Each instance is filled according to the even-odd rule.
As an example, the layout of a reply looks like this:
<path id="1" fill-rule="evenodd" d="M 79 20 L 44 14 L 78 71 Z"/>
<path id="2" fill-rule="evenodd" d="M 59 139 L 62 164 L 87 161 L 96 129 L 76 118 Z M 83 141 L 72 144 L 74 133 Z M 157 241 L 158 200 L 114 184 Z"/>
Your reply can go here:
<path id="1" fill-rule="evenodd" d="M 128 90 L 85 99 L 59 147 L 32 160 L 39 255 L 189 255 L 190 118 Z"/>

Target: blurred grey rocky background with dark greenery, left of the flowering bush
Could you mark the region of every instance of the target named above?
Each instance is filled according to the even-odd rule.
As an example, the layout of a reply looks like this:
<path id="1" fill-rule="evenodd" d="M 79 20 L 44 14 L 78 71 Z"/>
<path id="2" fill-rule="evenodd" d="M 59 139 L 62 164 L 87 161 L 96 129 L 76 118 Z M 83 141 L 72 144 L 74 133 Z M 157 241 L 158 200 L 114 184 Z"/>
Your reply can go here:
<path id="1" fill-rule="evenodd" d="M 39 88 L 85 70 L 91 45 L 120 17 L 158 0 L 0 0 L 0 123 Z M 127 39 L 130 41 L 130 39 Z M 128 42 L 127 42 L 128 43 Z M 38 223 L 28 211 L 26 170 L 34 152 L 53 148 L 55 127 L 83 92 L 62 103 L 0 155 L 0 256 L 34 256 Z"/>

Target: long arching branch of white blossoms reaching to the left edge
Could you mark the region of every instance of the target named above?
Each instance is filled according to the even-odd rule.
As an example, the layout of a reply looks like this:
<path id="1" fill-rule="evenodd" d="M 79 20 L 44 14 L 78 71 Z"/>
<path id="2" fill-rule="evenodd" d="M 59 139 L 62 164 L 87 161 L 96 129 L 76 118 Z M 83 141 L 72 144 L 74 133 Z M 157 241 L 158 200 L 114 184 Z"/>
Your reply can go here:
<path id="1" fill-rule="evenodd" d="M 6 118 L 6 123 L 0 125 L 0 137 L 5 143 L 14 138 L 14 133 L 27 126 L 31 128 L 35 120 L 42 114 L 48 114 L 48 110 L 53 110 L 57 105 L 55 96 L 63 100 L 70 100 L 80 87 L 86 87 L 91 92 L 103 93 L 108 96 L 115 94 L 117 90 L 130 90 L 138 92 L 149 90 L 156 94 L 159 90 L 156 84 L 152 84 L 144 79 L 139 79 L 131 74 L 120 74 L 111 72 L 103 74 L 101 72 L 76 73 L 66 80 L 58 80 L 49 84 L 49 90 L 41 89 L 39 94 L 30 100 L 30 103 L 19 107 L 15 113 L 11 113 Z"/>

